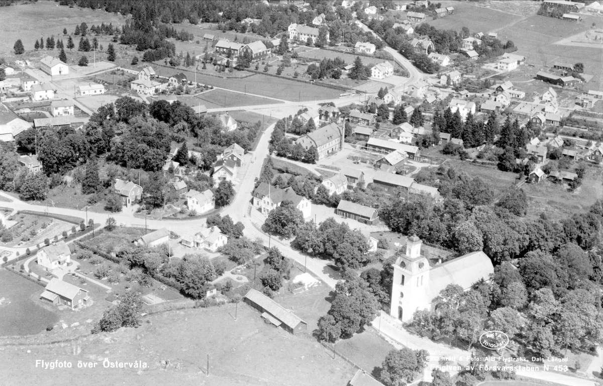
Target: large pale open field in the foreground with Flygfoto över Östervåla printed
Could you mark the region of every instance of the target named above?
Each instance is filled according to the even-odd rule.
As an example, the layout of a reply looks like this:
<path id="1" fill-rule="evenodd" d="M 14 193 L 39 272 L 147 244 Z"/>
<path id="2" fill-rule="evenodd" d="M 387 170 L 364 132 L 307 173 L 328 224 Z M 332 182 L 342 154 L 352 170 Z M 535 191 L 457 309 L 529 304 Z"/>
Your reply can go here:
<path id="1" fill-rule="evenodd" d="M 0 372 L 7 384 L 51 386 L 74 377 L 86 379 L 89 385 L 332 386 L 345 385 L 356 371 L 343 359 L 331 359 L 316 341 L 265 324 L 259 312 L 244 303 L 238 306 L 236 321 L 230 315 L 233 311 L 228 305 L 164 312 L 145 317 L 137 329 L 90 335 L 73 344 L 8 346 L 0 352 Z M 140 360 L 148 368 L 104 369 L 102 361 L 107 357 Z M 73 367 L 50 374 L 36 369 L 34 359 L 71 361 Z M 98 365 L 78 369 L 78 360 Z"/>

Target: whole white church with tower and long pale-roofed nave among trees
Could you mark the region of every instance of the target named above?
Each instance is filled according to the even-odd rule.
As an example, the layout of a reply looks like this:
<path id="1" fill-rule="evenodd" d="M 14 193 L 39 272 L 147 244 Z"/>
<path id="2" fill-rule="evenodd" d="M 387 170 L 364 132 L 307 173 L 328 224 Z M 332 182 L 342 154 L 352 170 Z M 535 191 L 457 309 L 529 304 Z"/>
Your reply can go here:
<path id="1" fill-rule="evenodd" d="M 494 273 L 490 258 L 482 251 L 431 267 L 421 255 L 421 244 L 420 238 L 410 236 L 406 240 L 406 254 L 393 264 L 390 315 L 404 323 L 412 321 L 418 309 L 431 309 L 431 301 L 447 285 L 458 284 L 467 290 L 481 279 L 489 280 Z"/>

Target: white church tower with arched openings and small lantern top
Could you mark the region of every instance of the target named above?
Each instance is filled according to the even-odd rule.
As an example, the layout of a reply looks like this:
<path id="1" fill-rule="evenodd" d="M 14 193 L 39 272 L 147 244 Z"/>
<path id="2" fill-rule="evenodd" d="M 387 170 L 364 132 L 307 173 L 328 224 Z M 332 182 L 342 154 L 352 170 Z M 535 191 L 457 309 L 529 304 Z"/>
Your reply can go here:
<path id="1" fill-rule="evenodd" d="M 417 236 L 406 240 L 406 254 L 394 266 L 390 315 L 407 323 L 417 309 L 429 309 L 429 261 L 421 256 L 423 242 Z"/>

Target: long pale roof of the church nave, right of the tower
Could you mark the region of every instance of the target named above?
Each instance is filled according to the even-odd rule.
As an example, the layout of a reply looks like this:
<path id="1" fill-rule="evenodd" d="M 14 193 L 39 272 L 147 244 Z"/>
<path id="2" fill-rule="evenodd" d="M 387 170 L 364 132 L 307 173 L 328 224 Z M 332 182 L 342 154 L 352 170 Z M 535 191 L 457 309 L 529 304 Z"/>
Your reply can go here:
<path id="1" fill-rule="evenodd" d="M 428 299 L 431 301 L 449 284 L 470 288 L 480 279 L 490 279 L 494 267 L 482 251 L 467 253 L 459 258 L 432 267 L 429 271 Z"/>

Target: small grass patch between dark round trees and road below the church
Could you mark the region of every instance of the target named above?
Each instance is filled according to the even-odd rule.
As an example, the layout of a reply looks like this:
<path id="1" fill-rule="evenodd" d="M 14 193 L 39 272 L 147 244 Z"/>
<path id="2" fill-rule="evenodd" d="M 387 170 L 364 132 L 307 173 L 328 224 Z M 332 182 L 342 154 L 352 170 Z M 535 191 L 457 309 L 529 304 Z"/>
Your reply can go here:
<path id="1" fill-rule="evenodd" d="M 379 337 L 373 329 L 367 329 L 361 334 L 356 334 L 350 339 L 340 340 L 335 344 L 337 352 L 368 373 L 372 373 L 375 367 L 381 367 L 387 353 L 394 348 Z"/>

